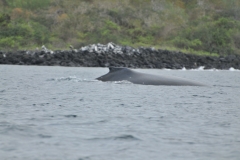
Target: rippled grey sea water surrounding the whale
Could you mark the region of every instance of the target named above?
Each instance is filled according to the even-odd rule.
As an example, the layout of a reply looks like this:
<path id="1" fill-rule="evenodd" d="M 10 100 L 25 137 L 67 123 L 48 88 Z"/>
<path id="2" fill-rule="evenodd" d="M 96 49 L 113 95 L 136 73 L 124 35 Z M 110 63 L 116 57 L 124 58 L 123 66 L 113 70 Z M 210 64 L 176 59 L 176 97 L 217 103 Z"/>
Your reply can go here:
<path id="1" fill-rule="evenodd" d="M 240 71 L 138 71 L 210 87 L 95 81 L 107 68 L 1 65 L 0 159 L 240 159 Z"/>

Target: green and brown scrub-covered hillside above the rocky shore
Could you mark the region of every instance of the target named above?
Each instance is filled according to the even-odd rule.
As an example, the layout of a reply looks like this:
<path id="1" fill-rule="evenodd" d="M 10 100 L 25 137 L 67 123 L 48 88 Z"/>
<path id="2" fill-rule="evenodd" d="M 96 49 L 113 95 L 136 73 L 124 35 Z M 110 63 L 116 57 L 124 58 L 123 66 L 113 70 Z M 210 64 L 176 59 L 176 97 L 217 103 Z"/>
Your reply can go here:
<path id="1" fill-rule="evenodd" d="M 0 50 L 114 42 L 240 54 L 239 0 L 0 0 Z"/>

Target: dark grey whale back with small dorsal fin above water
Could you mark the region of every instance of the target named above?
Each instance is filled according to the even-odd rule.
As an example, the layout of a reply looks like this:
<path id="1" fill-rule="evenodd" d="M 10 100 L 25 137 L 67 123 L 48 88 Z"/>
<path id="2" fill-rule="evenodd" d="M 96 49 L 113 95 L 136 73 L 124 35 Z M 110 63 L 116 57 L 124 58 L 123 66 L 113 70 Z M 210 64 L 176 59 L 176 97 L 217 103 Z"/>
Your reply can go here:
<path id="1" fill-rule="evenodd" d="M 107 74 L 96 79 L 103 82 L 125 80 L 134 84 L 143 85 L 206 86 L 204 84 L 183 78 L 140 73 L 123 67 L 109 67 L 109 72 Z"/>

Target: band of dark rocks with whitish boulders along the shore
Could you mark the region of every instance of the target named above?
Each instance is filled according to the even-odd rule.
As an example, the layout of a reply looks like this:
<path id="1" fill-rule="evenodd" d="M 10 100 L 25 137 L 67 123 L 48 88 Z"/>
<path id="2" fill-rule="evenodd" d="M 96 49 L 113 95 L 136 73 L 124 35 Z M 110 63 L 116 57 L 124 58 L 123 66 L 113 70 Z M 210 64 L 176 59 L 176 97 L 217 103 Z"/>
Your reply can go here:
<path id="1" fill-rule="evenodd" d="M 35 51 L 0 51 L 0 64 L 72 66 L 72 67 L 129 67 L 195 69 L 240 69 L 240 55 L 209 57 L 184 54 L 182 52 L 156 50 L 154 48 L 132 48 L 114 43 L 93 44 L 80 49 L 48 50 L 42 46 Z"/>

